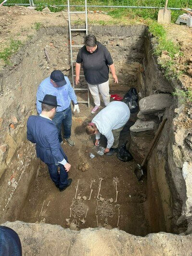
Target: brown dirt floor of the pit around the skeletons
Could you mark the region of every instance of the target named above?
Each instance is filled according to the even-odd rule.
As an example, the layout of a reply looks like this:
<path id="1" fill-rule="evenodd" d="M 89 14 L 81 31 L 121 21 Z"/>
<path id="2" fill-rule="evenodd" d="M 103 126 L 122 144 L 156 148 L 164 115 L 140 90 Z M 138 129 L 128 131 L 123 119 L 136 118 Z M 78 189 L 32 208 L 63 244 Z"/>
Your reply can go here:
<path id="1" fill-rule="evenodd" d="M 116 92 L 116 91 L 111 91 Z M 91 106 L 90 106 L 91 107 Z M 25 222 L 45 222 L 51 224 L 59 224 L 67 228 L 66 218 L 69 218 L 70 205 L 76 193 L 77 179 L 79 180 L 79 189 L 77 196 L 81 196 L 80 202 L 85 205 L 85 211 L 88 209 L 87 218 L 85 214 L 75 218 L 79 228 L 97 227 L 95 210 L 97 207 L 97 194 L 99 178 L 103 178 L 100 196 L 105 199 L 113 198 L 114 202 L 109 203 L 113 206 L 114 216 L 107 218 L 107 223 L 113 228 L 117 227 L 118 221 L 118 206 L 120 206 L 119 228 L 128 233 L 144 236 L 149 233 L 149 226 L 145 216 L 144 202 L 146 200 L 146 180 L 138 182 L 134 175 L 135 161 L 122 162 L 116 155 L 107 157 L 100 156 L 92 149 L 94 147 L 93 138 L 88 137 L 85 133 L 86 121 L 91 121 L 93 115 L 90 114 L 90 109 L 86 104 L 80 104 L 80 114 L 73 115 L 72 138 L 75 141 L 75 146 L 70 147 L 66 142 L 63 144 L 65 153 L 71 164 L 69 178 L 72 178 L 72 185 L 64 192 L 59 190 L 52 183 L 47 167 L 41 163 L 40 170 L 34 182 L 34 187 L 31 188 L 26 201 L 26 206 L 23 209 L 19 220 Z M 120 143 L 129 138 L 129 127 L 133 124 L 131 116 L 128 124 L 121 133 Z M 88 142 L 88 153 L 86 153 Z M 101 138 L 101 145 L 106 146 L 105 138 Z M 91 159 L 89 153 L 95 154 L 95 158 Z M 88 170 L 82 172 L 78 170 L 78 165 L 88 163 Z M 118 199 L 115 203 L 115 187 L 113 178 L 118 177 L 117 184 Z M 90 201 L 90 181 L 95 179 L 92 185 L 92 195 Z M 82 199 L 83 196 L 87 200 Z M 44 202 L 44 205 L 43 205 Z M 42 208 L 43 205 L 43 208 Z M 47 206 L 48 205 L 48 206 Z M 99 205 L 101 202 L 99 201 Z M 99 215 L 99 214 L 98 214 Z M 80 219 L 85 219 L 85 224 L 82 224 Z M 70 220 L 72 221 L 73 218 Z M 106 220 L 98 218 L 99 224 L 106 224 Z"/>

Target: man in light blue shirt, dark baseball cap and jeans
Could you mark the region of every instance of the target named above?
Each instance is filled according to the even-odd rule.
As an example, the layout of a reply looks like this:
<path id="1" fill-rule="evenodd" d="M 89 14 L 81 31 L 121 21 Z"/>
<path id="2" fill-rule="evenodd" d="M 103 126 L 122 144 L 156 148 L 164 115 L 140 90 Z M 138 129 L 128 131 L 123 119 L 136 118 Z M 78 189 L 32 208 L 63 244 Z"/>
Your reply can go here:
<path id="1" fill-rule="evenodd" d="M 41 113 L 41 103 L 46 94 L 51 94 L 57 97 L 57 102 L 60 107 L 57 107 L 56 114 L 52 119 L 55 123 L 58 133 L 59 142 L 61 143 L 62 135 L 61 128 L 64 124 L 64 139 L 70 146 L 74 146 L 74 141 L 71 137 L 72 113 L 71 113 L 71 100 L 74 102 L 74 112 L 80 113 L 77 96 L 71 87 L 68 77 L 65 77 L 60 70 L 54 70 L 50 77 L 45 78 L 38 87 L 37 92 L 37 110 L 38 114 Z"/>

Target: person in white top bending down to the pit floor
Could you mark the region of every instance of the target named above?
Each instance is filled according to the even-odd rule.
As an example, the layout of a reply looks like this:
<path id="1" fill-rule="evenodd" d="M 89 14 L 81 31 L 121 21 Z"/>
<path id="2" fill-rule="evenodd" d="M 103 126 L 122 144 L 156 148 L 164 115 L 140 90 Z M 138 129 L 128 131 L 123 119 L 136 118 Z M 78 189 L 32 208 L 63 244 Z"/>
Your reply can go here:
<path id="1" fill-rule="evenodd" d="M 113 155 L 118 148 L 120 132 L 128 122 L 129 117 L 130 110 L 126 103 L 110 102 L 86 126 L 86 132 L 88 135 L 96 135 L 96 146 L 99 144 L 100 135 L 104 135 L 107 138 L 104 153 Z"/>

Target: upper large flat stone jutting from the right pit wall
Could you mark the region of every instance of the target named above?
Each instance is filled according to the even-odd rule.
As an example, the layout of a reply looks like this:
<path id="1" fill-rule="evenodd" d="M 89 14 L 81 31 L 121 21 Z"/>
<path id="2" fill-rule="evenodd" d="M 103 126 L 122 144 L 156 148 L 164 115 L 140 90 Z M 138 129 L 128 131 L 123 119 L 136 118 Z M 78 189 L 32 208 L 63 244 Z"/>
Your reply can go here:
<path id="1" fill-rule="evenodd" d="M 140 100 L 140 112 L 143 115 L 164 111 L 172 104 L 172 96 L 169 93 L 154 94 Z"/>

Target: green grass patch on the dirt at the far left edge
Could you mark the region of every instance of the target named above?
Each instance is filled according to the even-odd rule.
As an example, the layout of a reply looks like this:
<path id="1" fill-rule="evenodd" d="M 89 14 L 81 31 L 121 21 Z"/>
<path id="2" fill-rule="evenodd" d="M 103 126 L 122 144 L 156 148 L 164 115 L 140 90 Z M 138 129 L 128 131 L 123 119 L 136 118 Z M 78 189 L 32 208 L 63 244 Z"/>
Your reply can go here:
<path id="1" fill-rule="evenodd" d="M 3 51 L 0 51 L 0 59 L 2 59 L 5 64 L 10 63 L 10 57 L 18 51 L 19 47 L 22 45 L 20 40 L 13 40 L 11 39 L 9 47 L 4 48 Z"/>

